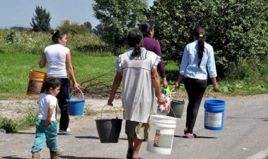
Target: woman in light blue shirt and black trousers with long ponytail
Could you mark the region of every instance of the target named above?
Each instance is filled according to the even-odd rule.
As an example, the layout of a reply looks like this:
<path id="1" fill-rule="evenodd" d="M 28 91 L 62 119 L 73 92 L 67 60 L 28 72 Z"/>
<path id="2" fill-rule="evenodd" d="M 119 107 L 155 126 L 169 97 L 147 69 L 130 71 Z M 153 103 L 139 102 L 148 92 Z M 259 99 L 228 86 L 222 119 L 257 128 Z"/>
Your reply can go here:
<path id="1" fill-rule="evenodd" d="M 194 42 L 187 44 L 183 51 L 181 69 L 178 79 L 175 82 L 177 88 L 183 81 L 188 93 L 189 103 L 186 115 L 186 126 L 184 134 L 186 138 L 193 138 L 193 128 L 202 101 L 202 97 L 207 88 L 207 75 L 212 80 L 213 89 L 219 91 L 217 84 L 217 70 L 214 60 L 214 51 L 211 45 L 205 42 L 205 29 L 201 26 L 193 30 Z"/>

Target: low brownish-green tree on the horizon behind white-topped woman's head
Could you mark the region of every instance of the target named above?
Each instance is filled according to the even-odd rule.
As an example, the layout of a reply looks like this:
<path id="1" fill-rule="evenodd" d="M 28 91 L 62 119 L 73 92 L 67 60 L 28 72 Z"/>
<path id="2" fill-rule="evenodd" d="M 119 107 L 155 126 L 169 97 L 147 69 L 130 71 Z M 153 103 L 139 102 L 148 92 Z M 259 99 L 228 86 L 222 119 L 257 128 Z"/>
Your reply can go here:
<path id="1" fill-rule="evenodd" d="M 63 20 L 59 26 L 59 30 L 68 32 L 69 34 L 85 34 L 88 32 L 85 25 L 79 25 L 78 23 L 71 23 L 69 20 Z"/>

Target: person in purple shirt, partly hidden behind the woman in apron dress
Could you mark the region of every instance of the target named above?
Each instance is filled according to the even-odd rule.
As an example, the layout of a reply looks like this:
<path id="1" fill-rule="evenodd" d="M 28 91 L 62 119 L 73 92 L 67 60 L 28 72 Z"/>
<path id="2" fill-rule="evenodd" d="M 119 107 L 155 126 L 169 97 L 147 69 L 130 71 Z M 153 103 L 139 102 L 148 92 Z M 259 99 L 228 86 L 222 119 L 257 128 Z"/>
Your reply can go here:
<path id="1" fill-rule="evenodd" d="M 168 82 L 166 81 L 166 72 L 165 72 L 165 65 L 164 60 L 162 57 L 161 46 L 157 39 L 153 39 L 154 37 L 154 23 L 145 22 L 140 23 L 139 29 L 143 34 L 143 46 L 145 49 L 156 53 L 158 56 L 161 57 L 160 63 L 157 65 L 157 69 L 163 79 L 164 88 L 168 87 Z"/>

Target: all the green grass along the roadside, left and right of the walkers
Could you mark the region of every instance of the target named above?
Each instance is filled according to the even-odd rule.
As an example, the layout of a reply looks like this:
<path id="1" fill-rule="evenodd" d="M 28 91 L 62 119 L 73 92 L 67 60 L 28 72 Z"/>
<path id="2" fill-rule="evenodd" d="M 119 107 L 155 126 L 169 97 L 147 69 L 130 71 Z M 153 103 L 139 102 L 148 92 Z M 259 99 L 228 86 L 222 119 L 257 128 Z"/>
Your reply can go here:
<path id="1" fill-rule="evenodd" d="M 1 47 L 0 47 L 1 48 Z M 4 51 L 6 52 L 6 51 Z M 0 53 L 0 98 L 25 98 L 26 90 L 28 87 L 30 70 L 42 70 L 47 69 L 39 68 L 39 59 L 41 53 Z M 106 56 L 87 56 L 85 54 L 74 53 L 72 56 L 72 63 L 75 68 L 75 77 L 78 82 L 86 82 L 89 79 L 103 75 L 106 72 L 110 72 L 109 76 L 102 77 L 103 84 L 111 85 L 114 80 L 116 70 L 114 63 L 116 56 L 107 54 Z M 243 72 L 252 72 L 250 65 L 247 70 Z M 251 77 L 252 75 L 246 75 L 244 79 L 228 79 L 219 81 L 220 92 L 222 95 L 252 95 L 252 94 L 267 94 L 268 93 L 268 78 L 267 78 L 268 64 L 262 63 L 262 73 L 258 76 Z M 240 70 L 237 70 L 240 72 Z M 235 71 L 234 75 L 238 74 Z M 178 77 L 178 64 L 175 62 L 168 62 L 166 64 L 166 75 L 170 85 L 176 81 Z M 255 74 L 254 74 L 255 75 Z M 88 84 L 88 82 L 87 82 Z M 82 87 L 86 87 L 83 85 Z M 181 87 L 183 90 L 183 87 Z M 207 91 L 213 91 L 210 85 Z"/>

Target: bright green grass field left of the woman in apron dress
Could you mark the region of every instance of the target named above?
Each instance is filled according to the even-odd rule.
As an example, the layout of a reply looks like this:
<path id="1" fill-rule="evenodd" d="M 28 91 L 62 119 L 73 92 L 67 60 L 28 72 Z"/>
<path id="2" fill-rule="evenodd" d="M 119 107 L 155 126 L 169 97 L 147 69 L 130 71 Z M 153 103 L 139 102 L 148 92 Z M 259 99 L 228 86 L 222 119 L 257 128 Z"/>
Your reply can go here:
<path id="1" fill-rule="evenodd" d="M 41 55 L 30 53 L 0 53 L 0 98 L 26 97 L 30 70 L 39 68 Z M 77 55 L 72 57 L 75 68 L 75 77 L 78 82 L 102 75 L 114 70 L 115 56 L 92 57 Z M 106 79 L 111 84 L 113 79 Z"/>

